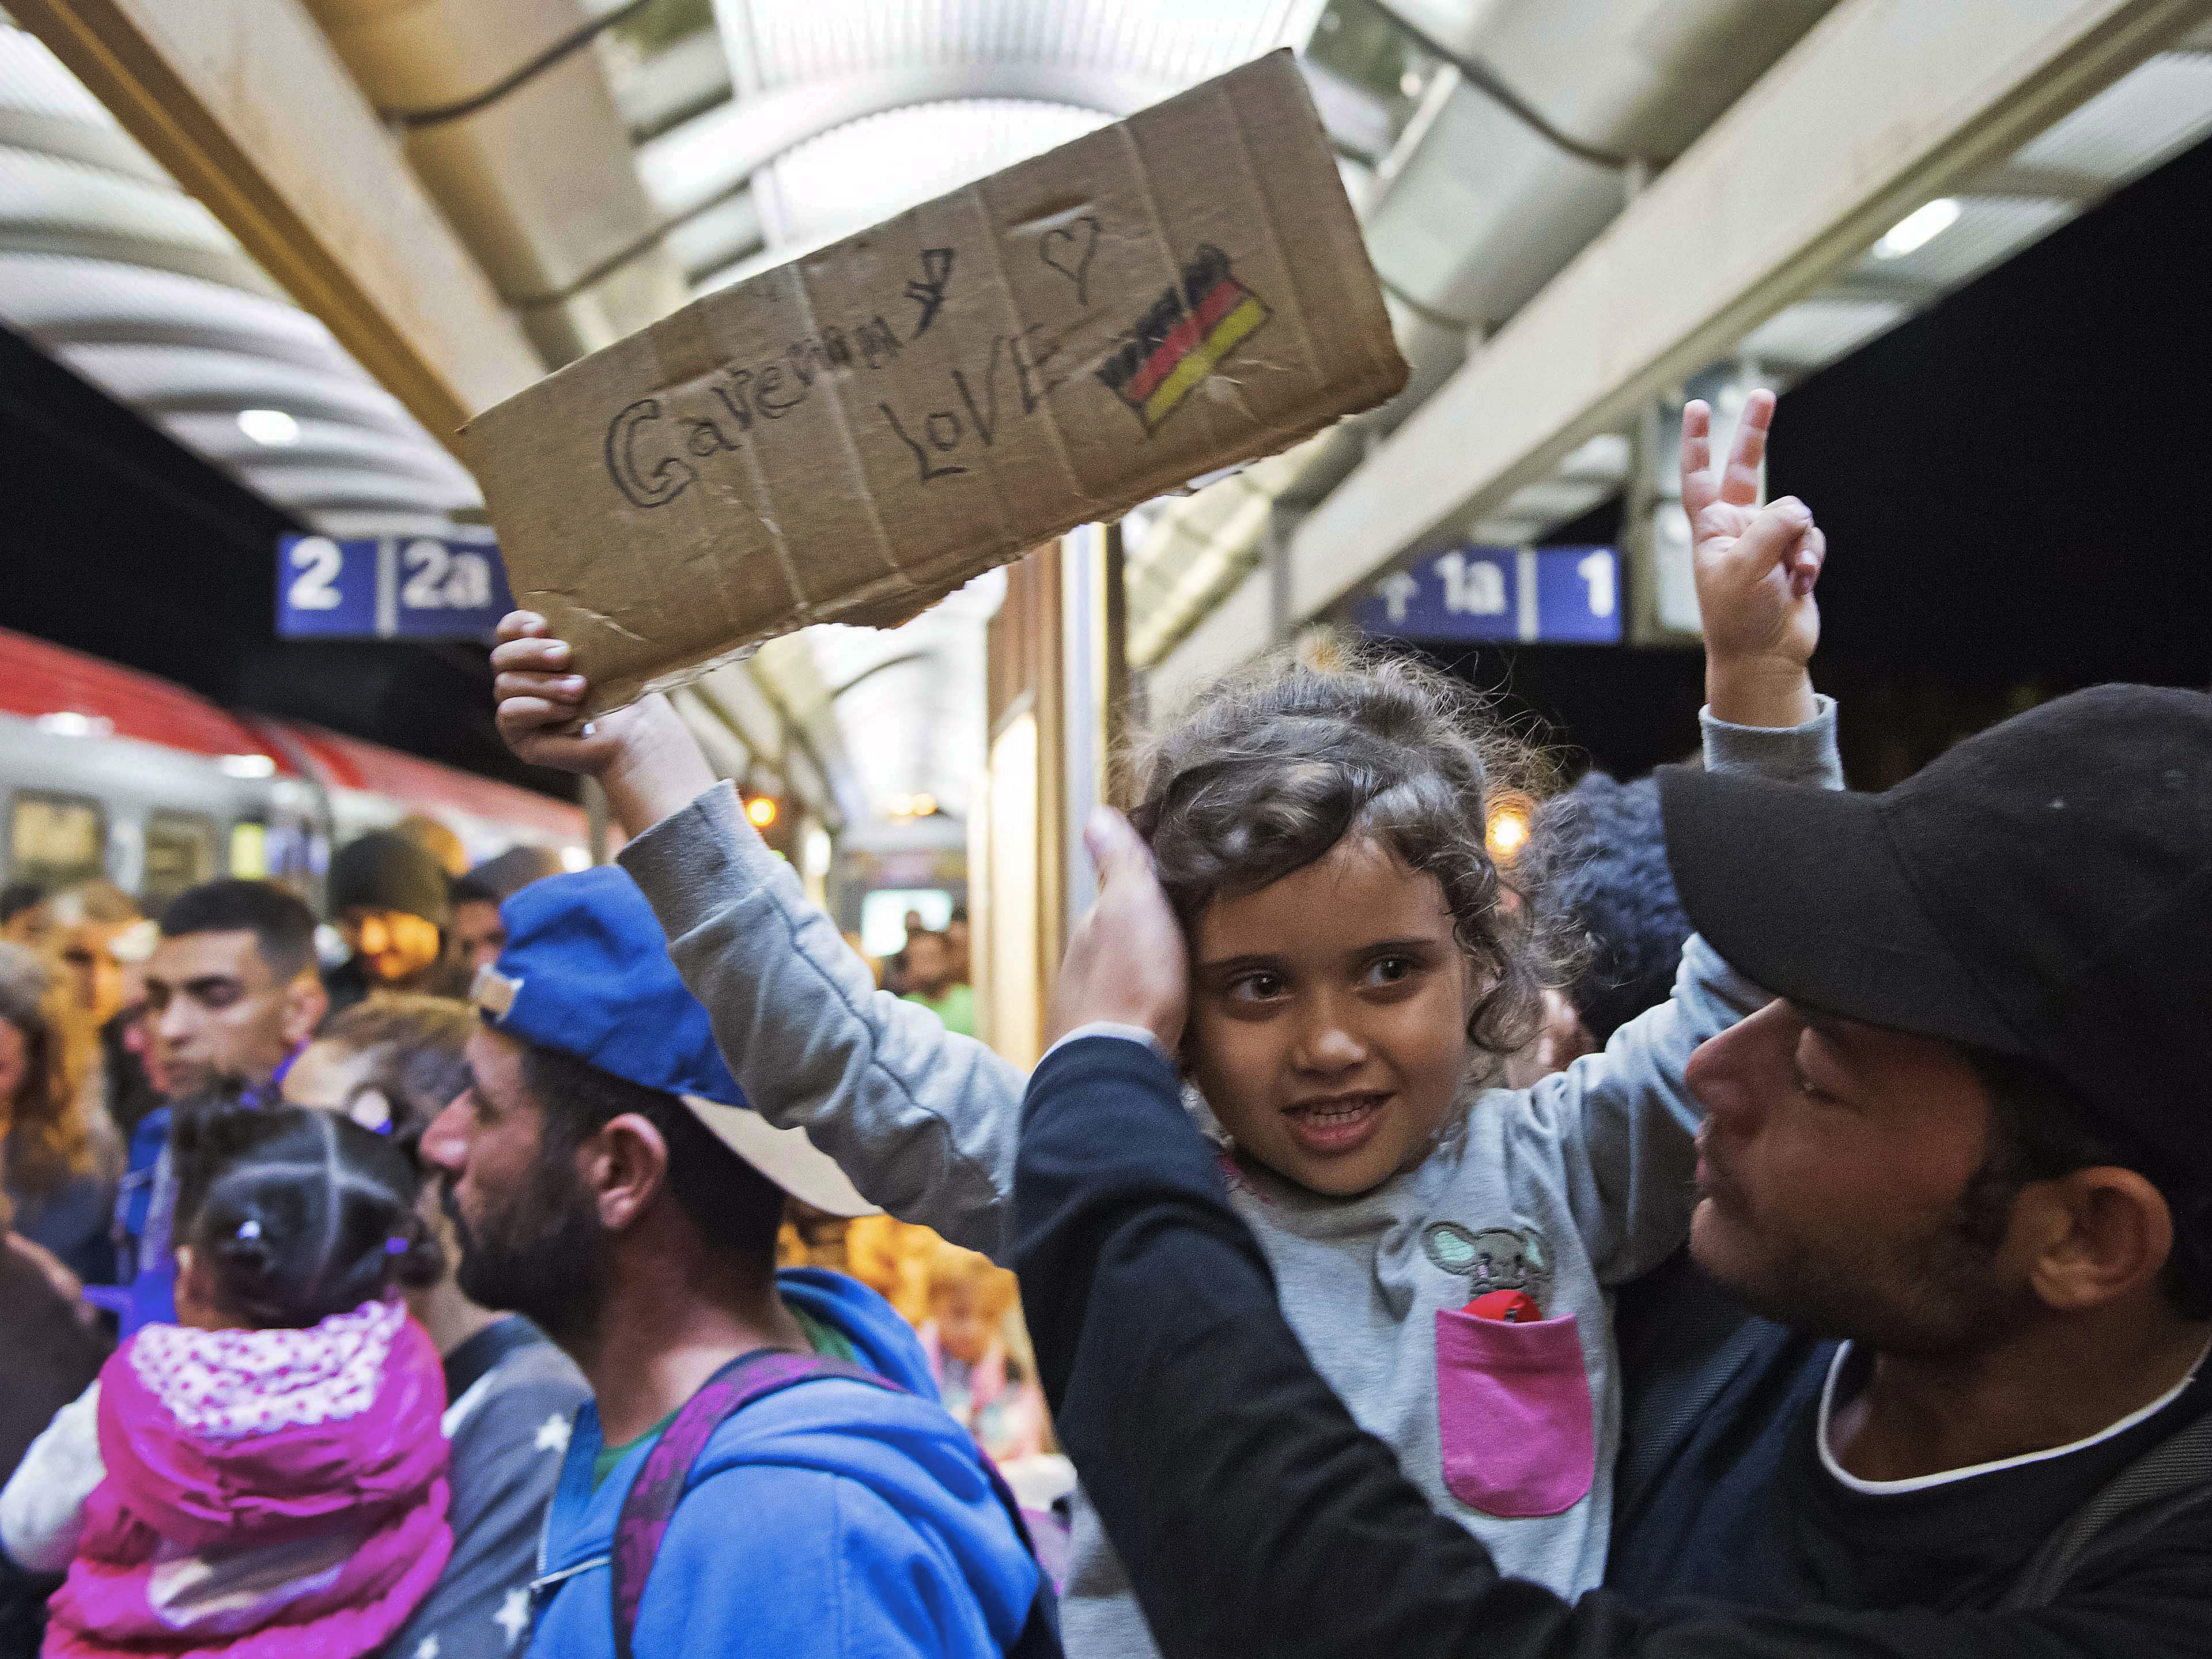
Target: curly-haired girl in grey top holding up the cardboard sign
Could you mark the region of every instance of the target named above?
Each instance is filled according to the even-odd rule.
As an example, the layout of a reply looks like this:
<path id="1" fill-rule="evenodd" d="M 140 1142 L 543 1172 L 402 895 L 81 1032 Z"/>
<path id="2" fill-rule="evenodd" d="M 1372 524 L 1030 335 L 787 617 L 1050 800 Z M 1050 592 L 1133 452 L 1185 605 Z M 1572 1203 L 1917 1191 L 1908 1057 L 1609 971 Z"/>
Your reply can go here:
<path id="1" fill-rule="evenodd" d="M 1705 761 L 1840 785 L 1805 664 L 1823 542 L 1759 509 L 1774 403 L 1708 476 L 1683 420 L 1708 650 Z M 666 701 L 562 730 L 566 646 L 511 617 L 500 721 L 524 759 L 591 770 L 635 836 L 624 865 L 752 1104 L 805 1124 L 863 1192 L 1000 1252 L 1022 1075 L 925 1011 L 874 998 L 834 927 L 712 785 Z M 1192 953 L 1186 1077 L 1316 1367 L 1502 1573 L 1599 1582 L 1619 1436 L 1608 1290 L 1686 1237 L 1690 1051 L 1763 998 L 1703 942 L 1674 1000 L 1528 1091 L 1482 1091 L 1533 1013 L 1537 964 L 1482 843 L 1500 734 L 1409 664 L 1263 666 L 1194 701 L 1144 768 L 1135 823 Z M 1225 1332 L 1223 1340 L 1234 1334 Z M 1066 1639 L 1148 1632 L 1086 1506 Z"/>

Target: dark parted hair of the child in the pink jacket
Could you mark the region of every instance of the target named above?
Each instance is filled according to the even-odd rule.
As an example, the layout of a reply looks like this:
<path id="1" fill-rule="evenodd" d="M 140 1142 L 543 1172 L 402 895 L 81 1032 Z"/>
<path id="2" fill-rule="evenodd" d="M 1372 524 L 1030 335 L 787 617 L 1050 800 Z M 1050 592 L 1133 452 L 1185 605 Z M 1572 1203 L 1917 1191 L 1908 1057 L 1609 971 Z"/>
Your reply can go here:
<path id="1" fill-rule="evenodd" d="M 438 1281 L 414 1166 L 387 1137 L 303 1106 L 206 1104 L 175 1146 L 177 1237 L 223 1314 L 303 1329 Z"/>

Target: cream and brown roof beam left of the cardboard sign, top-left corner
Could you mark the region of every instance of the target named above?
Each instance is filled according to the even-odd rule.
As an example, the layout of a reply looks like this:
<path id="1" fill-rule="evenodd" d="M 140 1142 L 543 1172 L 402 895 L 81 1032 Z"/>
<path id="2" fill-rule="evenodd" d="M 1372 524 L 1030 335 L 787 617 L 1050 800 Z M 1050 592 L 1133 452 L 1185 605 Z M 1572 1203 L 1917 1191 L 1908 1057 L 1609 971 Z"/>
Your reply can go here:
<path id="1" fill-rule="evenodd" d="M 440 442 L 544 363 L 299 0 L 9 0 Z"/>

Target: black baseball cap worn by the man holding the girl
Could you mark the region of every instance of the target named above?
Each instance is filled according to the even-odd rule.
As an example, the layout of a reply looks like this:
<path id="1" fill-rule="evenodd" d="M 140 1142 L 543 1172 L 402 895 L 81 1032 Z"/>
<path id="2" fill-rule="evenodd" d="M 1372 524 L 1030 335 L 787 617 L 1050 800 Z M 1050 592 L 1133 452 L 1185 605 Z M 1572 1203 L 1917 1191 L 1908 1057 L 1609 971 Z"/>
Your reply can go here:
<path id="1" fill-rule="evenodd" d="M 2212 1190 L 2212 697 L 2097 686 L 1882 794 L 1663 768 L 1705 940 L 1774 995 L 2053 1071 Z"/>

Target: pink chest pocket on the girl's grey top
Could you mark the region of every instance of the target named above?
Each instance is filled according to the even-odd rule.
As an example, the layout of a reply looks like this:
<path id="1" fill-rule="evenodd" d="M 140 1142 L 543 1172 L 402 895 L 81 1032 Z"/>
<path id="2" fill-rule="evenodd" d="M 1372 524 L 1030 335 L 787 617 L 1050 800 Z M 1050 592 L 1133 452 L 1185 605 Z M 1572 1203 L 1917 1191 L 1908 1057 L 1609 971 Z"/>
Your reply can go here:
<path id="1" fill-rule="evenodd" d="M 1597 1473 L 1590 1378 L 1575 1316 L 1509 1325 L 1436 1316 L 1444 1486 L 1484 1515 L 1564 1515 Z"/>

